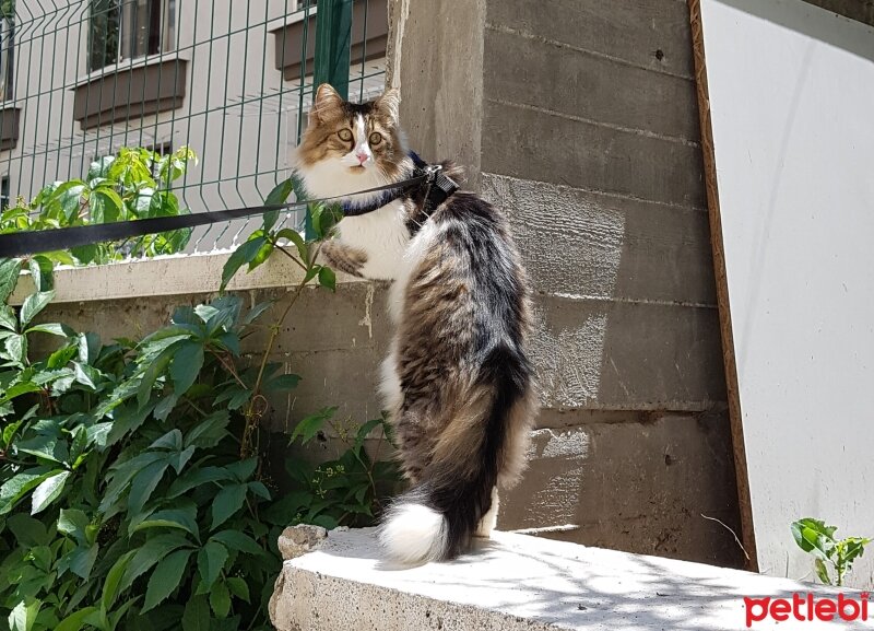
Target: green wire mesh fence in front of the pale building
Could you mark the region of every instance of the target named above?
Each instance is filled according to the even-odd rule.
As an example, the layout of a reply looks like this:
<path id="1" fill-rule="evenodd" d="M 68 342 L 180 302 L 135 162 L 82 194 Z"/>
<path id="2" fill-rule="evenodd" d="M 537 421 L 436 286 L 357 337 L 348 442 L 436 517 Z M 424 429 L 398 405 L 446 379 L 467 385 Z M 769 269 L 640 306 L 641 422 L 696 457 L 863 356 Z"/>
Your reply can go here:
<path id="1" fill-rule="evenodd" d="M 261 203 L 288 177 L 306 125 L 320 8 L 351 50 L 350 98 L 382 91 L 386 0 L 354 0 L 351 23 L 328 20 L 330 2 L 0 0 L 2 202 L 82 177 L 122 147 L 188 145 L 199 163 L 174 185 L 184 207 Z M 232 246 L 258 223 L 201 229 L 189 250 Z"/>

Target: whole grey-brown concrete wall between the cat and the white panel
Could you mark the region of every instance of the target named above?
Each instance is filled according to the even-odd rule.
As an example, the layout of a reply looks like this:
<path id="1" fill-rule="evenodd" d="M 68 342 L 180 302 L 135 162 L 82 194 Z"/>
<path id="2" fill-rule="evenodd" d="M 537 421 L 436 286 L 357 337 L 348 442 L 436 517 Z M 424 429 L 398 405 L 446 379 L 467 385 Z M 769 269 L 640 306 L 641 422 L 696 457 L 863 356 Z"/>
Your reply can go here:
<path id="1" fill-rule="evenodd" d="M 393 9 L 413 147 L 472 167 L 538 294 L 543 411 L 499 527 L 739 564 L 701 516 L 739 530 L 686 3 Z"/>

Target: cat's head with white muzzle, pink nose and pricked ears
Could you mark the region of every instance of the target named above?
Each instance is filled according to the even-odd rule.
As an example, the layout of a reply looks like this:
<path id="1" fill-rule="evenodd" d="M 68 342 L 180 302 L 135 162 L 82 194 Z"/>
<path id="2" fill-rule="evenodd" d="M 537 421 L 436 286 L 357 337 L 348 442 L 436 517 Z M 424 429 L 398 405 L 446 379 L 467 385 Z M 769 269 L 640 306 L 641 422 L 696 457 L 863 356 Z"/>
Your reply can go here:
<path id="1" fill-rule="evenodd" d="M 398 105 L 397 90 L 357 104 L 343 101 L 333 87 L 322 83 L 297 151 L 298 166 L 304 171 L 318 167 L 342 179 L 397 178 L 406 155 Z"/>

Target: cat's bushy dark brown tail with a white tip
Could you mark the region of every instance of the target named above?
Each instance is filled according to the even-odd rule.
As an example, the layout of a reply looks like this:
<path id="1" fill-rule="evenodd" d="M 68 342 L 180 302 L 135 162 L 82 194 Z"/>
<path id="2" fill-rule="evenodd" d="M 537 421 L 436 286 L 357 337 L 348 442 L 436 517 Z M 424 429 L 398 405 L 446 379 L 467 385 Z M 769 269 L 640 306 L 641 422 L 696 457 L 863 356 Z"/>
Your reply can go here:
<path id="1" fill-rule="evenodd" d="M 442 561 L 463 552 L 492 507 L 499 479 L 506 486 L 521 472 L 532 418 L 528 361 L 501 344 L 479 373 L 471 396 L 437 440 L 422 481 L 397 498 L 383 518 L 379 541 L 395 562 Z"/>

